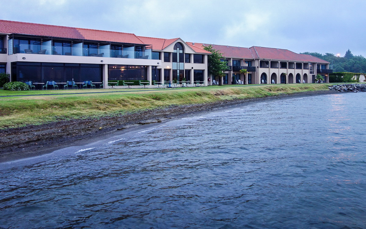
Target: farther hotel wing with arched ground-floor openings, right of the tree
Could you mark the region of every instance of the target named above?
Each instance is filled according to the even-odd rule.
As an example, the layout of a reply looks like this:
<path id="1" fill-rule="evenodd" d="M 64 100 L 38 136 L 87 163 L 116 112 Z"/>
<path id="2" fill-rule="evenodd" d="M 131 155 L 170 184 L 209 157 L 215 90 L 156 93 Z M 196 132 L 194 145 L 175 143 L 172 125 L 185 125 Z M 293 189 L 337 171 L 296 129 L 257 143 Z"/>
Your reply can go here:
<path id="1" fill-rule="evenodd" d="M 195 43 L 194 45 L 205 47 L 210 44 Z M 212 47 L 220 51 L 225 57 L 221 61 L 226 61 L 228 65 L 222 84 L 232 84 L 238 80 L 243 81 L 244 84 L 315 83 L 317 74 L 323 76 L 324 82 L 329 82 L 329 73 L 333 72 L 329 69 L 329 62 L 287 49 L 258 46 L 243 48 L 227 45 L 212 45 Z M 240 69 L 247 69 L 247 73 L 240 74 Z"/>

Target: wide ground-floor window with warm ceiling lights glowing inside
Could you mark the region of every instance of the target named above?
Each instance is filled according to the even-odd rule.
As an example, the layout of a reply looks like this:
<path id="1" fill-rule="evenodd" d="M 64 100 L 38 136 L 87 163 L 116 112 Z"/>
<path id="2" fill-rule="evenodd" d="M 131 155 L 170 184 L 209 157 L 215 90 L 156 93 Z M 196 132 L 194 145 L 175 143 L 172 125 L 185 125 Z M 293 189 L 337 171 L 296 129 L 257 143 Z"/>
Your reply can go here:
<path id="1" fill-rule="evenodd" d="M 147 80 L 147 67 L 141 65 L 108 65 L 109 80 Z"/>

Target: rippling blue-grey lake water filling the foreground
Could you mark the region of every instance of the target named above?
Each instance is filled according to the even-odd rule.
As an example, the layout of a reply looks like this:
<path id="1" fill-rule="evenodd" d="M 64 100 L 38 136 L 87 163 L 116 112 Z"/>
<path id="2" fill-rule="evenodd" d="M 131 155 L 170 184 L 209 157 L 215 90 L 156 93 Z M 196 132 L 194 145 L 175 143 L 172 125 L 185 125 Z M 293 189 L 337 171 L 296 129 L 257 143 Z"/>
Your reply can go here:
<path id="1" fill-rule="evenodd" d="M 0 164 L 0 228 L 366 228 L 365 96 L 255 103 Z"/>

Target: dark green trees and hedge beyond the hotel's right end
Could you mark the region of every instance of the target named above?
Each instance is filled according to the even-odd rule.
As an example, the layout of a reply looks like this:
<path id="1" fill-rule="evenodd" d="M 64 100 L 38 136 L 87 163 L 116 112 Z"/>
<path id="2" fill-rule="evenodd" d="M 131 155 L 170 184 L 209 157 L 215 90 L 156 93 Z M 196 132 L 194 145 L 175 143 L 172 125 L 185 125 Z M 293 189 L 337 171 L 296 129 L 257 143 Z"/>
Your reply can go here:
<path id="1" fill-rule="evenodd" d="M 329 68 L 332 68 L 333 72 L 353 72 L 353 73 L 366 73 L 366 58 L 362 55 L 355 56 L 351 50 L 348 49 L 343 57 L 335 56 L 333 53 L 326 52 L 321 54 L 318 52 L 303 52 L 300 54 L 309 54 L 317 58 L 329 61 Z"/>

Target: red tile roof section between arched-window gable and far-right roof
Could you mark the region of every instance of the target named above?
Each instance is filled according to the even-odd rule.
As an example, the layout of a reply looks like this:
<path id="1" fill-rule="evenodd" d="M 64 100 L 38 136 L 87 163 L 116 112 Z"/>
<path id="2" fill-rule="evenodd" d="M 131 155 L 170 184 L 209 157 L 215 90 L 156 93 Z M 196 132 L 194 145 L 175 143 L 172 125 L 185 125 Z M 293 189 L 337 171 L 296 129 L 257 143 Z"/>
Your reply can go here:
<path id="1" fill-rule="evenodd" d="M 187 42 L 188 44 L 193 44 L 191 42 Z M 212 47 L 216 50 L 219 50 L 220 53 L 226 58 L 240 58 L 240 59 L 254 59 L 252 53 L 249 48 L 243 47 L 234 47 L 227 45 L 213 45 L 213 44 L 202 44 L 195 43 L 195 47 L 205 47 L 212 45 Z"/>

